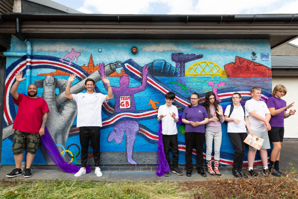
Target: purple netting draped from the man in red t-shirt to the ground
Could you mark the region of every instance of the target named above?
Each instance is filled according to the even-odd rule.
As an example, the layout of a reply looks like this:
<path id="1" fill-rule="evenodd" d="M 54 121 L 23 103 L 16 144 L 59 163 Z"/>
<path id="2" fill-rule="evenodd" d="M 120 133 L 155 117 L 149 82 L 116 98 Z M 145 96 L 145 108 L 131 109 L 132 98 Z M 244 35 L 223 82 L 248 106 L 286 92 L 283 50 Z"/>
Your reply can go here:
<path id="1" fill-rule="evenodd" d="M 47 127 L 44 129 L 44 135 L 40 137 L 40 142 L 47 151 L 47 154 L 50 156 L 50 158 L 53 160 L 53 162 L 63 171 L 75 174 L 79 171 L 81 167 L 68 162 L 65 162 L 63 157 L 61 157 L 59 150 L 57 149 L 57 146 L 52 139 L 51 134 L 47 130 Z M 91 167 L 86 165 L 86 173 L 89 173 L 91 170 Z"/>

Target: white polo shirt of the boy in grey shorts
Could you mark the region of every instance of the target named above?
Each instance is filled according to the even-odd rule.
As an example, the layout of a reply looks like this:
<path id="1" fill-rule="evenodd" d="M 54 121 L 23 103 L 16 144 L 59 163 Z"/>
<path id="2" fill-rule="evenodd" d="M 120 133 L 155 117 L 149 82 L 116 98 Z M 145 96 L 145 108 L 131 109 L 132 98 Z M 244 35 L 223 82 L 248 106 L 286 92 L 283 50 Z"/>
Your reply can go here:
<path id="1" fill-rule="evenodd" d="M 254 99 L 250 99 L 245 102 L 245 108 L 245 116 L 248 116 L 251 129 L 255 131 L 266 131 L 266 128 L 264 127 L 264 122 L 255 119 L 249 114 L 251 111 L 255 111 L 255 113 L 260 115 L 262 118 L 266 118 L 266 114 L 270 114 L 270 111 L 267 108 L 266 103 L 261 100 L 256 101 Z"/>

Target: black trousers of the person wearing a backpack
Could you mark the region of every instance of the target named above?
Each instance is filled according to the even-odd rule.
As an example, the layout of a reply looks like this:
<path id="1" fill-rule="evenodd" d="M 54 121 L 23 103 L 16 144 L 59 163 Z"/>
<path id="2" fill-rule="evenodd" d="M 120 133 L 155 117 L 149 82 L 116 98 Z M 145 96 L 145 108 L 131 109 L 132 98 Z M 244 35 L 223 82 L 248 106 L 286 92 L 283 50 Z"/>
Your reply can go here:
<path id="1" fill-rule="evenodd" d="M 247 136 L 247 133 L 229 133 L 233 148 L 234 148 L 234 163 L 233 170 L 242 170 L 243 158 L 245 154 L 246 144 L 243 142 Z"/>

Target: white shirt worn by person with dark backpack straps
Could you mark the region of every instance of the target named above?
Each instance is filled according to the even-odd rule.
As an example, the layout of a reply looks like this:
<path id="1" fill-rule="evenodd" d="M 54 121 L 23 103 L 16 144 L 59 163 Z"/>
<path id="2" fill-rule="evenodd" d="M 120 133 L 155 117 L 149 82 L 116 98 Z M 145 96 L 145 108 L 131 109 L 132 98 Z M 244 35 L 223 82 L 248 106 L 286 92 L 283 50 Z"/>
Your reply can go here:
<path id="1" fill-rule="evenodd" d="M 228 105 L 226 110 L 224 111 L 224 115 L 229 116 L 231 105 Z M 244 111 L 242 106 L 236 107 L 234 105 L 233 112 L 230 115 L 230 118 L 236 118 L 240 120 L 240 123 L 237 124 L 234 121 L 228 122 L 228 132 L 230 133 L 246 133 L 246 124 L 244 121 Z"/>

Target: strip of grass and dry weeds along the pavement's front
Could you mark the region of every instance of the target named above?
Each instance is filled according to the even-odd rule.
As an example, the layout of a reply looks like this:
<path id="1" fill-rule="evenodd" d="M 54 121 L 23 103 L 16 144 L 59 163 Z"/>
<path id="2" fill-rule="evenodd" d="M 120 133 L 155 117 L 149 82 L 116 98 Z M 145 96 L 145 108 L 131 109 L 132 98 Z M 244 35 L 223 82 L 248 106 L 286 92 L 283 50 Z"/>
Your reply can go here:
<path id="1" fill-rule="evenodd" d="M 296 199 L 298 182 L 294 175 L 249 179 L 220 178 L 204 182 L 2 181 L 0 198 Z"/>

